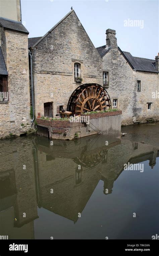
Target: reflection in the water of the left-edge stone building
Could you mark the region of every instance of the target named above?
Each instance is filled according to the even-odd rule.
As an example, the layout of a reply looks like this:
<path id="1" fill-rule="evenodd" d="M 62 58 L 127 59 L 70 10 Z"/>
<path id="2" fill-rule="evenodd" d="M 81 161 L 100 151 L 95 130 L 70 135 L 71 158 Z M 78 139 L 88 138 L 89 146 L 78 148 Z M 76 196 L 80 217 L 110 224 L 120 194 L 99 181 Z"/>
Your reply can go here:
<path id="1" fill-rule="evenodd" d="M 32 141 L 18 138 L 0 143 L 0 235 L 33 239 L 38 215 Z"/>

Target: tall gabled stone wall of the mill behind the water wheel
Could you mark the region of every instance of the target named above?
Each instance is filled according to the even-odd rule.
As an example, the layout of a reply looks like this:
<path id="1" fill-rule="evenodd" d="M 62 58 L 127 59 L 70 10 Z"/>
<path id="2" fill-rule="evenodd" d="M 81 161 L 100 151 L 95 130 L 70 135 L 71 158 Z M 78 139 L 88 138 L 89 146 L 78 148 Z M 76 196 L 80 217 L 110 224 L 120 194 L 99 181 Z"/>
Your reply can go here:
<path id="1" fill-rule="evenodd" d="M 53 103 L 53 116 L 60 105 L 67 108 L 74 81 L 74 63 L 81 63 L 84 83 L 102 82 L 102 59 L 72 11 L 33 50 L 36 117 L 44 115 L 44 103 Z"/>

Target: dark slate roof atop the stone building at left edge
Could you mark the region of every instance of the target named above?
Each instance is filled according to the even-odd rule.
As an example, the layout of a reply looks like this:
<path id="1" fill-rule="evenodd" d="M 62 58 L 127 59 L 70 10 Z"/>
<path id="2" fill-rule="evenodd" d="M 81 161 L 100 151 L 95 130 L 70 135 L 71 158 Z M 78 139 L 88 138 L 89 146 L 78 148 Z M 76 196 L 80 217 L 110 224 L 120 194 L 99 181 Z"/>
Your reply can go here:
<path id="1" fill-rule="evenodd" d="M 21 22 L 18 21 L 11 21 L 0 18 L 0 25 L 5 29 L 15 30 L 29 34 L 28 30 L 22 25 Z"/>

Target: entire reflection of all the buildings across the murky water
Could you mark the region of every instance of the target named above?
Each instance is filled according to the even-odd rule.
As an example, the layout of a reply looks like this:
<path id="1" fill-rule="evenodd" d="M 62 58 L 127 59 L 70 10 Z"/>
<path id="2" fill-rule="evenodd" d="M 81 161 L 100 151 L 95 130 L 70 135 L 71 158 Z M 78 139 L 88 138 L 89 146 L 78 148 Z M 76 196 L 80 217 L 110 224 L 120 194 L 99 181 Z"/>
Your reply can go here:
<path id="1" fill-rule="evenodd" d="M 76 222 L 99 180 L 108 195 L 125 163 L 149 160 L 153 168 L 159 156 L 154 146 L 103 135 L 53 146 L 43 137 L 0 143 L 0 235 L 9 239 L 34 238 L 37 204 Z"/>

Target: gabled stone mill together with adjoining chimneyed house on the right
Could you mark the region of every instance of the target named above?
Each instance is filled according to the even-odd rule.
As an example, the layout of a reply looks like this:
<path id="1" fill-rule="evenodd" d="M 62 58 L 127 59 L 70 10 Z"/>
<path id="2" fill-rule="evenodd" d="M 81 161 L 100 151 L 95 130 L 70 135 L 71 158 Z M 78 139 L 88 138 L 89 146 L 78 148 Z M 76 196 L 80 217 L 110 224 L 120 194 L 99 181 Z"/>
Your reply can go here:
<path id="1" fill-rule="evenodd" d="M 159 120 L 158 59 L 133 57 L 117 46 L 115 30 L 106 31 L 106 45 L 95 50 L 74 10 L 43 37 L 29 38 L 33 58 L 36 117 L 56 116 L 67 108 L 71 93 L 81 84 L 106 87 L 113 108 L 122 110 L 122 124 Z M 99 57 L 100 55 L 100 57 Z"/>

